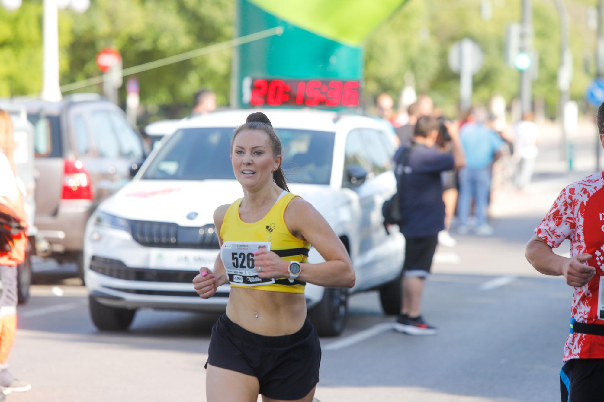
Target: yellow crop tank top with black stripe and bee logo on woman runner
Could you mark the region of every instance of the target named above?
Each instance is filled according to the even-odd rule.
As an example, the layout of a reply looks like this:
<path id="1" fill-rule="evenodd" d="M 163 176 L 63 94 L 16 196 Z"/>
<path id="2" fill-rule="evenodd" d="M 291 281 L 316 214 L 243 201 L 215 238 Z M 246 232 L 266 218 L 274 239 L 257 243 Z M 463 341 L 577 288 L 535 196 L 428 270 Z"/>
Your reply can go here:
<path id="1" fill-rule="evenodd" d="M 246 223 L 239 217 L 239 205 L 242 198 L 236 200 L 226 210 L 220 237 L 223 241 L 265 241 L 271 243 L 271 251 L 286 261 L 308 262 L 310 243 L 300 240 L 292 235 L 285 225 L 283 214 L 289 202 L 295 197 L 292 193 L 286 193 L 277 200 L 268 214 L 254 223 Z M 306 282 L 298 281 L 292 283 L 288 278 L 279 278 L 274 284 L 259 286 L 240 286 L 231 281 L 231 287 L 246 287 L 254 290 L 266 290 L 269 292 L 304 293 Z"/>

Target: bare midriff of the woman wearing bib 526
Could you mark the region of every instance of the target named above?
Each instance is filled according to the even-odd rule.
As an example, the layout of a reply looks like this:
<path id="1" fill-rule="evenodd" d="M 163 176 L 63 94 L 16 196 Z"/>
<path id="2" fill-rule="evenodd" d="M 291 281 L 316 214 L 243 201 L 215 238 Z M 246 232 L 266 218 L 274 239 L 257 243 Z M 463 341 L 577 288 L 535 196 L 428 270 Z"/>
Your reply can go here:
<path id="1" fill-rule="evenodd" d="M 226 315 L 235 324 L 255 334 L 289 335 L 296 333 L 304 324 L 306 298 L 303 293 L 259 292 L 231 287 Z"/>

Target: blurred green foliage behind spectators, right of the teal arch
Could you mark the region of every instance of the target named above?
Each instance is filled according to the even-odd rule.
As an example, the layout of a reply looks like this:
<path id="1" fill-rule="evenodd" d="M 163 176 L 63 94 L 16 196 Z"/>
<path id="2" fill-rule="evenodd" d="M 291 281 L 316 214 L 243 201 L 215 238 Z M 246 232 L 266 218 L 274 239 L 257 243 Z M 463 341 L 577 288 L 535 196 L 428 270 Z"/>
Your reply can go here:
<path id="1" fill-rule="evenodd" d="M 521 0 L 488 0 L 492 19 L 481 18 L 481 0 L 410 1 L 368 38 L 365 45 L 365 97 L 387 92 L 396 100 L 411 72 L 416 90 L 431 95 L 448 115 L 457 113 L 459 77 L 447 63 L 449 47 L 463 37 L 477 42 L 484 53 L 481 70 L 474 75 L 473 102 L 486 104 L 494 94 L 507 101 L 518 97 L 519 73 L 503 60 L 504 33 L 510 22 L 521 20 Z M 586 55 L 593 55 L 596 34 L 587 28 L 587 8 L 595 0 L 566 1 L 570 49 L 574 56 L 571 97 L 582 100 L 595 74 L 585 71 Z M 549 115 L 557 110 L 557 69 L 560 62 L 559 19 L 553 0 L 533 0 L 534 45 L 539 53 L 539 75 L 533 97 L 545 101 Z M 591 58 L 593 60 L 593 57 Z"/>

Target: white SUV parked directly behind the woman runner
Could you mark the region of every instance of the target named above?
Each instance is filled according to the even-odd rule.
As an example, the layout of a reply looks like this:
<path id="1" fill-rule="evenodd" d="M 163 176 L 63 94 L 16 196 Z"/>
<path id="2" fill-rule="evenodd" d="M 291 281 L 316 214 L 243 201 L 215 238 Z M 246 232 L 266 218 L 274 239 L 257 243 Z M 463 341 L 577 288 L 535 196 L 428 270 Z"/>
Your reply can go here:
<path id="1" fill-rule="evenodd" d="M 137 176 L 101 203 L 86 226 L 85 278 L 92 321 L 126 330 L 137 308 L 223 311 L 230 287 L 199 298 L 191 280 L 219 252 L 213 212 L 242 197 L 231 166 L 234 128 L 250 110 L 182 120 Z M 316 110 L 266 110 L 283 143 L 293 193 L 312 203 L 350 253 L 356 285 L 381 290 L 389 314 L 400 308 L 404 238 L 385 230 L 382 204 L 396 191 L 394 145 L 372 118 Z M 309 263 L 323 261 L 313 248 Z M 341 333 L 347 289 L 306 286 L 309 317 L 324 336 Z"/>

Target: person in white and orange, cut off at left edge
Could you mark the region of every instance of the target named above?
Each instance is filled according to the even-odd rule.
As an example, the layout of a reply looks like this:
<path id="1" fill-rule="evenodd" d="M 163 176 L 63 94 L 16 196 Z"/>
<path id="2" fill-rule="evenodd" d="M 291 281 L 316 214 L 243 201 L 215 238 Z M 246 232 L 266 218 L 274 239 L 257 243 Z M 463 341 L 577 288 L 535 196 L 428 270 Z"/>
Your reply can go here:
<path id="1" fill-rule="evenodd" d="M 17 266 L 25 259 L 27 223 L 23 204 L 24 186 L 19 185 L 14 165 L 14 132 L 10 115 L 0 110 L 0 212 L 21 221 L 22 230 L 12 235 L 12 241 L 0 247 L 0 401 L 11 392 L 24 392 L 31 385 L 16 380 L 8 371 L 8 354 L 13 347 L 17 328 Z M 2 221 L 0 221 L 0 225 Z M 12 244 L 10 244 L 12 243 Z M 0 244 L 1 245 L 1 244 Z"/>

